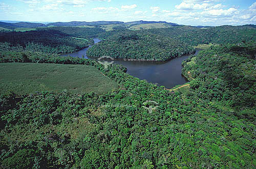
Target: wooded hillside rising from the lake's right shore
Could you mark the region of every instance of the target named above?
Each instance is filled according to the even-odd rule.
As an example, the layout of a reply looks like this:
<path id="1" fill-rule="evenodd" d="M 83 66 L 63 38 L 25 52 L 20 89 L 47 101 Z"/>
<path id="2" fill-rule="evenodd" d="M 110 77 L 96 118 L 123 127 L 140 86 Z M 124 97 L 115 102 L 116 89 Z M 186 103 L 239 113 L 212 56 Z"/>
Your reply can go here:
<path id="1" fill-rule="evenodd" d="M 255 58 L 255 42 L 210 47 L 210 50 L 190 58 L 188 64 L 184 63 L 183 74 L 198 79 L 192 88 L 201 91 L 199 95 L 204 100 L 215 98 L 230 106 L 254 107 Z"/>

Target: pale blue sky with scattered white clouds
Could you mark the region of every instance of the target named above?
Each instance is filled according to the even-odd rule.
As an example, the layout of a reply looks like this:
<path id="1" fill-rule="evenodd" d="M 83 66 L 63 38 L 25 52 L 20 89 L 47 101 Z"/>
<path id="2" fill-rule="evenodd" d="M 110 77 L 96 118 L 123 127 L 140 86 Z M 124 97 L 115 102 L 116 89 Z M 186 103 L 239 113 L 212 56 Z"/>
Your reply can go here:
<path id="1" fill-rule="evenodd" d="M 0 0 L 0 20 L 256 25 L 256 0 Z"/>

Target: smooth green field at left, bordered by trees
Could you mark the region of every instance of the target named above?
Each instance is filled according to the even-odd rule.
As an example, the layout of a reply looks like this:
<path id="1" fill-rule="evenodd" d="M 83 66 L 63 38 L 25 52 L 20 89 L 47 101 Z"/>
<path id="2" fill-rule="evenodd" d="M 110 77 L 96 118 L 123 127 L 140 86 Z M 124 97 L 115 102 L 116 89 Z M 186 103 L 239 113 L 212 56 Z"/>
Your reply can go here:
<path id="1" fill-rule="evenodd" d="M 93 66 L 0 63 L 0 94 L 27 94 L 36 91 L 106 93 L 118 84 Z"/>

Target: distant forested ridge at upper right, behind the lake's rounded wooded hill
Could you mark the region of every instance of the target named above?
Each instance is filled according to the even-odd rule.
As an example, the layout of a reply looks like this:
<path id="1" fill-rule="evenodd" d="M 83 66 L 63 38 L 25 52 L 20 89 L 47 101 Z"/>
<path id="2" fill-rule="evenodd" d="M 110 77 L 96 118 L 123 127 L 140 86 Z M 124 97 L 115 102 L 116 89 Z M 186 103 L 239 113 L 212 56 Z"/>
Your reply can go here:
<path id="1" fill-rule="evenodd" d="M 200 29 L 189 26 L 178 26 L 164 29 L 147 30 L 150 33 L 163 35 L 180 41 L 197 46 L 198 44 L 234 44 L 243 41 L 256 40 L 256 29 L 246 26 L 233 27 L 221 26 Z"/>

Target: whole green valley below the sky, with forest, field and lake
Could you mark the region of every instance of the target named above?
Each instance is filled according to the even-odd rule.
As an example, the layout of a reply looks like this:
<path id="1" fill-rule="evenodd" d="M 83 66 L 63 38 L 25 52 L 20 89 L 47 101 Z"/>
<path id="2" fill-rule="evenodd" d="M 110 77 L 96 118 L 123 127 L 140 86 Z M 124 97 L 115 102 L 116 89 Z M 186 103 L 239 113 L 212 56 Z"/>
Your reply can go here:
<path id="1" fill-rule="evenodd" d="M 1 24 L 0 167 L 256 167 L 254 26 Z"/>

